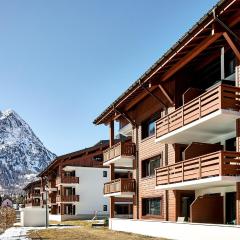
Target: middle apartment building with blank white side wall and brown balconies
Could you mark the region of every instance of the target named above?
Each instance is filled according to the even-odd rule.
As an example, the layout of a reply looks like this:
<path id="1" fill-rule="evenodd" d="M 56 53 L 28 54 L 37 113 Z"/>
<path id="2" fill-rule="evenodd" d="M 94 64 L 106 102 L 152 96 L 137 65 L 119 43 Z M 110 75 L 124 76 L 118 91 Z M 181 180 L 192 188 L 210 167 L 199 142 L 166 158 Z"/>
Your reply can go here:
<path id="1" fill-rule="evenodd" d="M 41 178 L 41 206 L 47 201 L 50 220 L 89 219 L 109 214 L 102 194 L 109 181 L 103 166 L 103 151 L 109 141 L 100 141 L 83 150 L 57 157 L 38 177 Z M 47 199 L 46 199 L 47 192 Z"/>

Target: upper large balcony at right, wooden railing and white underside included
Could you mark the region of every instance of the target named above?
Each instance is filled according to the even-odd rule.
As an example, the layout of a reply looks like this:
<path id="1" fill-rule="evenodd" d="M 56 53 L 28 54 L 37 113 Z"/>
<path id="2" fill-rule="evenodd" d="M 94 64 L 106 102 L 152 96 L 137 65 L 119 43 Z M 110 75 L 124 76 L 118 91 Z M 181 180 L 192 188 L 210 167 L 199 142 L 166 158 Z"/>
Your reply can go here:
<path id="1" fill-rule="evenodd" d="M 217 85 L 156 121 L 156 142 L 208 142 L 236 130 L 240 88 Z"/>

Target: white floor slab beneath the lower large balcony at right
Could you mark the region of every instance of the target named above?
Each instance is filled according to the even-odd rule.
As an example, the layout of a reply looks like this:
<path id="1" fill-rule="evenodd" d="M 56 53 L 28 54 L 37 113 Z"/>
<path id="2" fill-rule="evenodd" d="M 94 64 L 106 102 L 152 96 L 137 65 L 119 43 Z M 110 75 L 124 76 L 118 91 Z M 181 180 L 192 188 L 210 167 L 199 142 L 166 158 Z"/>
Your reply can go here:
<path id="1" fill-rule="evenodd" d="M 159 190 L 196 190 L 208 187 L 227 187 L 236 186 L 236 183 L 240 181 L 240 176 L 217 176 L 208 177 L 198 180 L 191 180 L 179 183 L 171 183 L 165 185 L 158 185 L 155 189 Z"/>

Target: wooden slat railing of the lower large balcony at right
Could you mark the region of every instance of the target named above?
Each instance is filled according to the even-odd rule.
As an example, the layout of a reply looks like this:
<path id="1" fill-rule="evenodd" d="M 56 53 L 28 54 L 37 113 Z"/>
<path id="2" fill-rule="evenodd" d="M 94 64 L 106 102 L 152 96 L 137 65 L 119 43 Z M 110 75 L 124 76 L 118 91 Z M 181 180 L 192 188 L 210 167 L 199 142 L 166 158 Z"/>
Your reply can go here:
<path id="1" fill-rule="evenodd" d="M 240 153 L 218 151 L 155 170 L 156 185 L 214 176 L 240 176 Z"/>

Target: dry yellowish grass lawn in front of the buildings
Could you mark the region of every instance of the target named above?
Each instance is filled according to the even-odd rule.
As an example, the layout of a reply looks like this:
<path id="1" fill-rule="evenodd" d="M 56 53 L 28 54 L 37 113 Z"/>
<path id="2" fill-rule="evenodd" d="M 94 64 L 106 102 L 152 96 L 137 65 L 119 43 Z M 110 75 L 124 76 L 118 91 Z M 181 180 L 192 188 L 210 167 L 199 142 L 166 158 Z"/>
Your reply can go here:
<path id="1" fill-rule="evenodd" d="M 51 222 L 51 224 L 55 224 L 55 222 Z M 87 221 L 64 221 L 61 222 L 61 224 L 79 227 L 30 231 L 28 237 L 33 240 L 163 240 L 162 238 L 152 238 L 137 234 L 111 231 L 107 227 L 92 228 L 91 223 Z"/>

